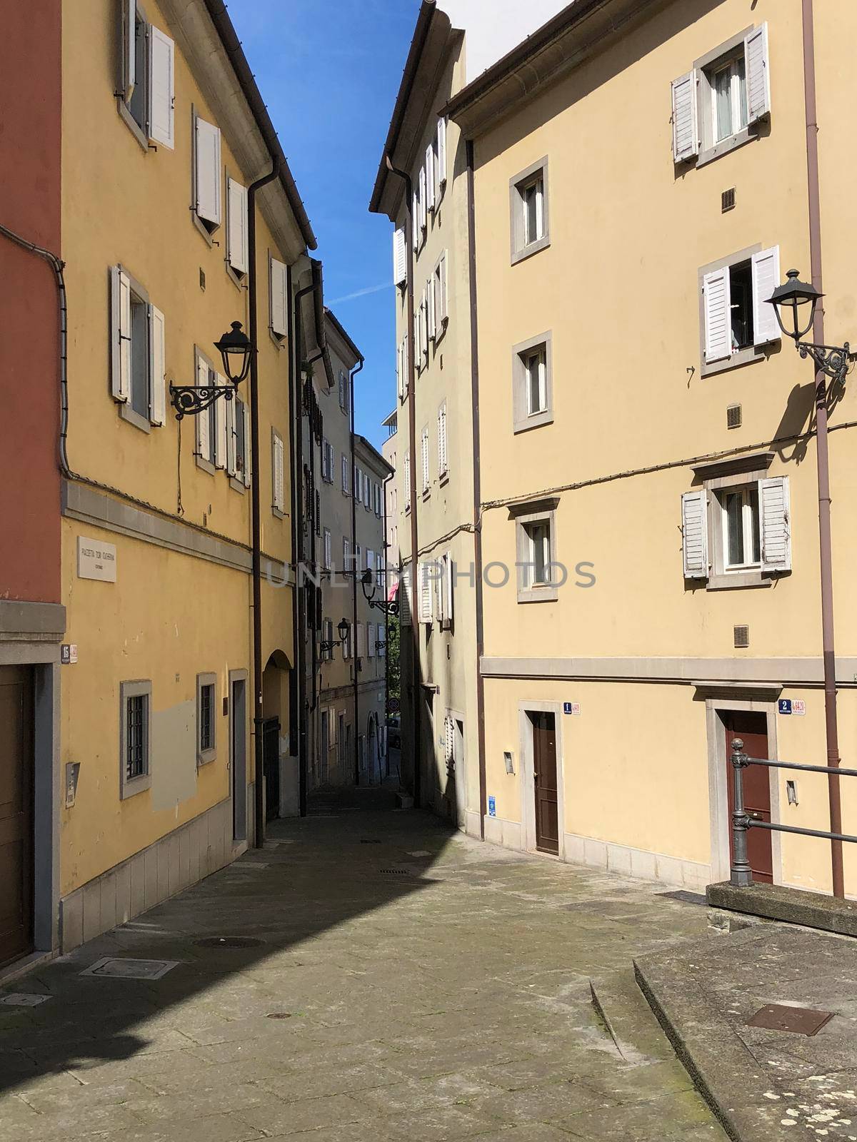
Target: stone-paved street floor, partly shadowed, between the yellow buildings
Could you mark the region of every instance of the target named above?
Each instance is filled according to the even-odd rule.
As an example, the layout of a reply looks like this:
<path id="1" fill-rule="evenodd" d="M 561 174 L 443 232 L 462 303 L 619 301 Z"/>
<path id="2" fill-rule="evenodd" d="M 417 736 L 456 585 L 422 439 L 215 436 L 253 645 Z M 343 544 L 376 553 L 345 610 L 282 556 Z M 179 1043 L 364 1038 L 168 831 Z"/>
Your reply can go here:
<path id="1" fill-rule="evenodd" d="M 633 955 L 705 932 L 658 891 L 418 812 L 278 822 L 0 992 L 49 997 L 0 1004 L 0 1137 L 722 1142 L 633 984 Z M 262 942 L 197 942 L 237 935 Z M 80 974 L 107 956 L 177 964 Z"/>

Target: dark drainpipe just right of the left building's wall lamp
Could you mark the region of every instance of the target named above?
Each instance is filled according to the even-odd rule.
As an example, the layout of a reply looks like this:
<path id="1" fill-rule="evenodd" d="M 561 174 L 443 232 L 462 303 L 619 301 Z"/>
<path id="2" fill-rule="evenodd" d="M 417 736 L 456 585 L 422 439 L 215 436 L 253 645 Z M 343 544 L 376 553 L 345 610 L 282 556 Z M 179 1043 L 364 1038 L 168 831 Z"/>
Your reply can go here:
<path id="1" fill-rule="evenodd" d="M 255 758 L 255 841 L 256 849 L 265 844 L 265 783 L 264 783 L 264 741 L 262 717 L 262 515 L 259 507 L 259 354 L 258 354 L 258 313 L 256 297 L 256 193 L 267 183 L 272 183 L 280 174 L 280 159 L 273 156 L 270 175 L 256 179 L 247 190 L 247 246 L 250 251 L 248 274 L 248 300 L 250 305 L 250 456 L 256 472 L 250 481 L 250 502 L 253 513 L 253 687 L 254 687 L 254 758 Z"/>

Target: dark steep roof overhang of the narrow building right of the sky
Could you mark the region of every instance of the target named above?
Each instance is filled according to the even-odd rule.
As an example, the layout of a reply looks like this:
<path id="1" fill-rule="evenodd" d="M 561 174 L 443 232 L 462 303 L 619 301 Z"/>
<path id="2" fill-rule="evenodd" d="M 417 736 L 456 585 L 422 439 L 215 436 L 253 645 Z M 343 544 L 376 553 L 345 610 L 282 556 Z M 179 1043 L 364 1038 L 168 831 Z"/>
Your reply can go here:
<path id="1" fill-rule="evenodd" d="M 423 0 L 378 163 L 370 214 L 385 214 L 391 222 L 397 220 L 405 183 L 390 169 L 387 160 L 398 170 L 409 171 L 414 166 L 449 47 L 458 34 L 435 0 Z"/>

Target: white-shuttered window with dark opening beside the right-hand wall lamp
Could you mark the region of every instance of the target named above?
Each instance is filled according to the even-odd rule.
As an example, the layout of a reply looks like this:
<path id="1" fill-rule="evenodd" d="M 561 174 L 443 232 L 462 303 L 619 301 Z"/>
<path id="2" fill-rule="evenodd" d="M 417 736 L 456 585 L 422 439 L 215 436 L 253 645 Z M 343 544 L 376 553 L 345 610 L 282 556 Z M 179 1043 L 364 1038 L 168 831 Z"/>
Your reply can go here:
<path id="1" fill-rule="evenodd" d="M 769 298 L 779 284 L 779 247 L 740 250 L 699 271 L 703 376 L 763 357 L 780 339 Z"/>

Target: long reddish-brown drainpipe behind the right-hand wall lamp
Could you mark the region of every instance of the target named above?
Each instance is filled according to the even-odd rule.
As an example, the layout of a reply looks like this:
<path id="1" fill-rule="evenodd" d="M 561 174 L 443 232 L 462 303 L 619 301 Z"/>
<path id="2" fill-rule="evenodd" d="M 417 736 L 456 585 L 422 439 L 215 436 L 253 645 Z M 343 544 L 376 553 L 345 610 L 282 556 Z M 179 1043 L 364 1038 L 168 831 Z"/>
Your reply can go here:
<path id="1" fill-rule="evenodd" d="M 809 252 L 812 284 L 822 291 L 822 210 L 818 172 L 818 115 L 816 105 L 816 58 L 812 0 L 802 0 L 803 9 L 803 91 L 807 107 L 807 188 L 809 196 Z M 812 339 L 824 344 L 824 303 L 816 308 Z M 836 724 L 836 656 L 833 627 L 833 566 L 831 545 L 831 483 L 827 448 L 827 385 L 816 372 L 816 456 L 818 465 L 818 547 L 822 573 L 822 656 L 824 662 L 824 723 L 827 737 L 827 764 L 839 767 L 839 727 Z M 827 775 L 831 833 L 842 831 L 842 801 L 839 774 Z M 844 898 L 842 842 L 831 841 L 833 895 Z"/>

